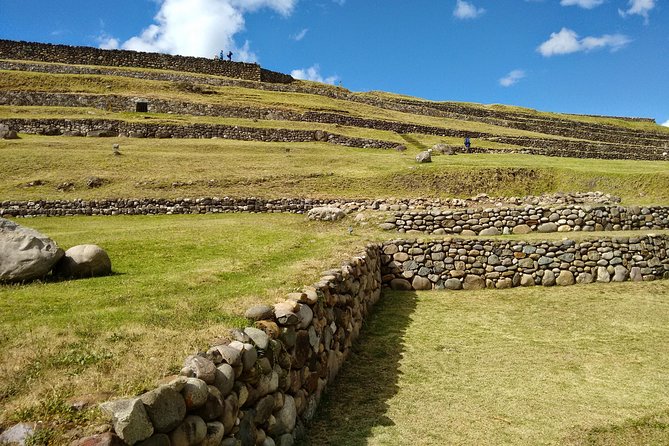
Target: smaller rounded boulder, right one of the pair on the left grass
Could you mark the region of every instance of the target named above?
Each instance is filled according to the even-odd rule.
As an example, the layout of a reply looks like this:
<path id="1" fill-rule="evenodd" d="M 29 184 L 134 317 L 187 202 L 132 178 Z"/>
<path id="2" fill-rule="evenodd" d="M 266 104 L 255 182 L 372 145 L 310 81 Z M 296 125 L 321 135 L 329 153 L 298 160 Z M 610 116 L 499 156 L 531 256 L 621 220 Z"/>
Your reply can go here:
<path id="1" fill-rule="evenodd" d="M 97 245 L 77 245 L 65 251 L 53 273 L 59 277 L 100 277 L 111 274 L 111 260 Z"/>

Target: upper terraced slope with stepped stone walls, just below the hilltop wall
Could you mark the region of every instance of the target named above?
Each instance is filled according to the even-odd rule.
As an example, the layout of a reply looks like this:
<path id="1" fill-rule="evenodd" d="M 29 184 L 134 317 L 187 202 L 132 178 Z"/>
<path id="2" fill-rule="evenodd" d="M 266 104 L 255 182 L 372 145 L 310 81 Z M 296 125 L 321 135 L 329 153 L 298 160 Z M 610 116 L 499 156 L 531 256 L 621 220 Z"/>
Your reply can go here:
<path id="1" fill-rule="evenodd" d="M 446 138 L 451 144 L 469 136 L 483 149 L 522 148 L 532 154 L 580 158 L 663 160 L 669 147 L 669 132 L 644 119 L 557 115 L 376 92 L 352 93 L 309 82 L 270 84 L 160 70 L 23 61 L 2 61 L 0 70 L 0 104 L 13 106 L 0 110 L 3 120 L 20 115 L 24 116 L 18 119 L 25 120 L 23 107 L 28 106 L 67 107 L 71 109 L 70 120 L 82 119 L 90 107 L 132 112 L 141 98 L 149 103 L 151 112 L 225 118 L 229 120 L 225 124 L 252 119 L 257 120 L 257 127 L 278 129 L 294 128 L 299 122 L 301 128 L 330 134 L 338 133 L 328 127 L 331 125 L 365 129 L 368 139 L 386 143 L 372 144 L 382 148 L 398 139 L 375 131 Z M 51 113 L 47 108 L 37 116 Z M 111 114 L 107 119 L 118 122 L 129 117 Z M 11 124 L 30 131 L 22 122 Z M 37 132 L 48 133 L 43 128 Z"/>

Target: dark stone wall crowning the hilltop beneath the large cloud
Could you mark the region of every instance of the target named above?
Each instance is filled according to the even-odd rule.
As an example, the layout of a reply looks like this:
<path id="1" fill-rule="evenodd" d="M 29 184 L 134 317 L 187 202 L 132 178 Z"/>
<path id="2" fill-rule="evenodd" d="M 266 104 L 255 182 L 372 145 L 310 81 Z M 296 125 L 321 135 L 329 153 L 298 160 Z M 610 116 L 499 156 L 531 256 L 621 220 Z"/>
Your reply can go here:
<path id="1" fill-rule="evenodd" d="M 172 56 L 126 50 L 102 50 L 83 46 L 17 42 L 2 39 L 0 39 L 0 59 L 175 70 L 260 82 L 289 83 L 293 81 L 291 76 L 263 70 L 257 64 L 228 62 L 203 57 Z"/>

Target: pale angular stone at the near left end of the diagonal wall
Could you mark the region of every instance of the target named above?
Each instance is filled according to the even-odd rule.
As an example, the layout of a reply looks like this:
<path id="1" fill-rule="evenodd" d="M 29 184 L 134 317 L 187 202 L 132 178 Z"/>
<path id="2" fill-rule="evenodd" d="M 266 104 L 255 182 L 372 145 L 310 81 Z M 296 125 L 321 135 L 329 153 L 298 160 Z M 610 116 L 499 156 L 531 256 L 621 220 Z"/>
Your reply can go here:
<path id="1" fill-rule="evenodd" d="M 153 425 L 139 398 L 103 403 L 100 408 L 111 415 L 116 434 L 129 445 L 153 435 Z"/>

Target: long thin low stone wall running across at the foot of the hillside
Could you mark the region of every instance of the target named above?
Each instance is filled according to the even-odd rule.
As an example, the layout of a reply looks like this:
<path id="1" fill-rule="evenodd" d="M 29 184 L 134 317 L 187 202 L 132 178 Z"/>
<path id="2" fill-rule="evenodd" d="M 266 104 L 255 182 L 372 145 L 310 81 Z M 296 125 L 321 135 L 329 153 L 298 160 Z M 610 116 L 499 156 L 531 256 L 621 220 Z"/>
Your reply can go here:
<path id="1" fill-rule="evenodd" d="M 72 216 L 72 215 L 155 215 L 155 214 L 213 214 L 230 212 L 286 212 L 304 214 L 316 207 L 336 207 L 345 213 L 364 210 L 381 212 L 409 211 L 420 213 L 444 208 L 466 208 L 472 205 L 491 204 L 528 204 L 546 206 L 549 204 L 569 203 L 611 203 L 620 198 L 601 192 L 559 193 L 525 197 L 490 197 L 480 194 L 471 198 L 450 199 L 381 199 L 381 200 L 346 200 L 312 198 L 144 198 L 144 199 L 107 199 L 107 200 L 35 200 L 35 201 L 0 201 L 0 216 L 37 217 L 37 216 Z"/>

